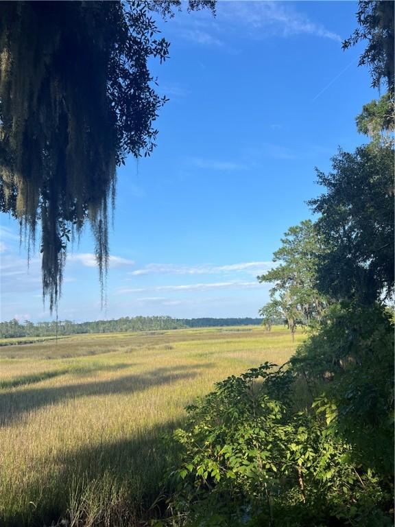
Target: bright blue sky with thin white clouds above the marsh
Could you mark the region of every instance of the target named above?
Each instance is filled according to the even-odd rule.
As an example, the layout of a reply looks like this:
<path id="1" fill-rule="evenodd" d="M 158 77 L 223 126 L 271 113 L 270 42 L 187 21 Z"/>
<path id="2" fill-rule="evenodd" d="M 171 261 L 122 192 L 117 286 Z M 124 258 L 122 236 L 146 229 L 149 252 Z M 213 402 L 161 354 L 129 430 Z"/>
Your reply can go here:
<path id="1" fill-rule="evenodd" d="M 105 310 L 86 229 L 64 272 L 60 318 L 165 314 L 257 316 L 268 270 L 289 226 L 310 217 L 337 148 L 364 138 L 355 115 L 377 94 L 361 47 L 342 51 L 356 2 L 219 1 L 160 29 L 170 58 L 152 63 L 170 101 L 149 159 L 118 172 Z M 40 255 L 19 248 L 1 215 L 1 319 L 49 320 Z"/>

